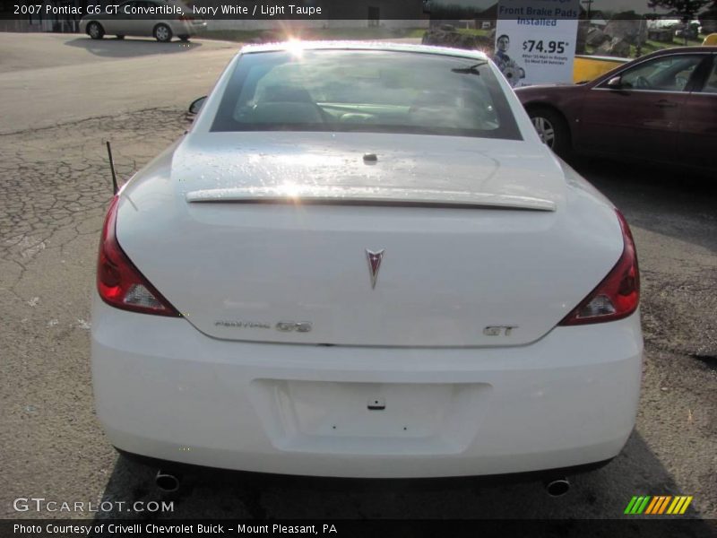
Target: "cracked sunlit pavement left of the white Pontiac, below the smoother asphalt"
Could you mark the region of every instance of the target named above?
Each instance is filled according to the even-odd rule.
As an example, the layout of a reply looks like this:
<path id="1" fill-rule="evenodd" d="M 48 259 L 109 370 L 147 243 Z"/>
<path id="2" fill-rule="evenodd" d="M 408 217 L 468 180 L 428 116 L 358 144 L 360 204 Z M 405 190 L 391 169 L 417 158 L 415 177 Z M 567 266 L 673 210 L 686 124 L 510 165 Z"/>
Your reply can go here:
<path id="1" fill-rule="evenodd" d="M 95 254 L 112 196 L 104 137 L 126 178 L 185 127 L 181 111 L 154 109 L 0 135 L 0 469 L 16 484 L 12 499 L 84 498 L 86 488 L 99 499 L 115 457 L 97 435 L 89 369 Z M 6 501 L 0 515 L 14 516 Z"/>

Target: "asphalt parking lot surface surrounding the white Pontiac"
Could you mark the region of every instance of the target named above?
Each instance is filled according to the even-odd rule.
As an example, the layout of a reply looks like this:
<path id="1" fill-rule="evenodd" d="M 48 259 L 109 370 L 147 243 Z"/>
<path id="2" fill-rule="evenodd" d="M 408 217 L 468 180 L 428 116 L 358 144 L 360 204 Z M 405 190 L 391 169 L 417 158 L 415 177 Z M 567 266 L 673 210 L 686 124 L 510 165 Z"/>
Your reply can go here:
<path id="1" fill-rule="evenodd" d="M 19 497 L 163 499 L 156 470 L 118 458 L 93 412 L 90 299 L 112 195 L 104 142 L 128 178 L 183 133 L 186 105 L 211 89 L 236 44 L 164 50 L 142 39 L 0 34 L 0 44 L 11 41 L 13 59 L 0 64 L 0 517 L 95 516 L 17 512 Z M 558 499 L 536 482 L 377 486 L 207 473 L 189 477 L 173 513 L 149 516 L 615 518 L 648 494 L 694 496 L 686 516 L 717 518 L 717 183 L 682 170 L 574 164 L 625 213 L 642 269 L 643 392 L 616 460 L 572 477 Z M 709 535 L 710 525 L 695 528 Z"/>

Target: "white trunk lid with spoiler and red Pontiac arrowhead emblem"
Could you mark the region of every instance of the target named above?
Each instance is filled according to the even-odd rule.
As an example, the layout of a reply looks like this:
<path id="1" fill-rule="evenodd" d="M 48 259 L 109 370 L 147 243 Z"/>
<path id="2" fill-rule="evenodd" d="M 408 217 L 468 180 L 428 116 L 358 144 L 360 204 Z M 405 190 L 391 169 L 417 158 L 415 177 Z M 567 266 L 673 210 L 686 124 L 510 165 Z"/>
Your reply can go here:
<path id="1" fill-rule="evenodd" d="M 387 134 L 263 139 L 186 141 L 168 178 L 140 182 L 120 206 L 128 256 L 213 337 L 530 343 L 621 252 L 617 219 L 599 214 L 612 210 L 582 191 L 569 209 L 562 170 L 541 148 Z"/>

